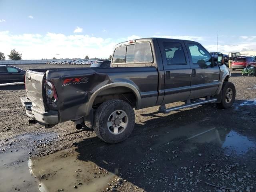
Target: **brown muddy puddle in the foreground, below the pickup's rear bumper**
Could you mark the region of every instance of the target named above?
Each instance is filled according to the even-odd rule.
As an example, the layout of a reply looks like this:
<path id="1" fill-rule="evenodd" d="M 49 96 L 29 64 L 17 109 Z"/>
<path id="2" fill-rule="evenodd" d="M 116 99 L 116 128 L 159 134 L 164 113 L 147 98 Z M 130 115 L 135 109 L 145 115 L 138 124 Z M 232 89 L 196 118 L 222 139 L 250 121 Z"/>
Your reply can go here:
<path id="1" fill-rule="evenodd" d="M 77 159 L 78 153 L 60 151 L 40 158 L 32 158 L 31 172 L 39 180 L 40 192 L 102 190 L 115 176 L 93 162 Z M 117 174 L 117 173 L 116 173 Z M 74 188 L 76 186 L 76 188 Z"/>

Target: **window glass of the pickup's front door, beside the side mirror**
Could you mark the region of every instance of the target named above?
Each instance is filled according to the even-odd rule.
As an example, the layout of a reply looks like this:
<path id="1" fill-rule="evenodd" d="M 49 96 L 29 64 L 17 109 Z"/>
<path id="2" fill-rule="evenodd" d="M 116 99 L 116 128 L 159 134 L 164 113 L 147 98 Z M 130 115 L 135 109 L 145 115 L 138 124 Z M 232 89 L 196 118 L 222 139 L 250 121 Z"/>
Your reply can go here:
<path id="1" fill-rule="evenodd" d="M 206 64 L 210 66 L 212 64 L 211 55 L 198 44 L 188 44 L 188 48 L 192 57 L 193 64 Z"/>

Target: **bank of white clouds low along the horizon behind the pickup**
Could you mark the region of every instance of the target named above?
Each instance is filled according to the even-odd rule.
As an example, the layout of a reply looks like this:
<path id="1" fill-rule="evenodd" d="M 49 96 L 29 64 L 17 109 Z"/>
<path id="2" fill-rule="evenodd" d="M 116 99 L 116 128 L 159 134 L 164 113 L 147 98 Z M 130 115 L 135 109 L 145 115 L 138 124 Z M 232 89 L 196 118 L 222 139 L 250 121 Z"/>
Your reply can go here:
<path id="1" fill-rule="evenodd" d="M 200 36 L 158 36 L 164 38 L 189 39 L 201 42 L 209 52 L 216 51 L 214 40 L 210 42 L 208 37 Z M 92 35 L 72 34 L 64 35 L 60 33 L 46 34 L 18 34 L 14 35 L 9 31 L 0 31 L 0 45 L 5 56 L 10 54 L 10 50 L 16 49 L 22 53 L 23 59 L 41 58 L 84 58 L 89 57 L 108 58 L 112 54 L 116 44 L 127 40 L 143 38 L 132 35 L 120 38 L 101 38 Z M 204 40 L 204 41 L 203 41 Z M 227 43 L 228 42 L 228 43 Z M 232 42 L 232 44 L 230 44 Z M 256 50 L 256 39 L 250 42 L 238 37 L 232 40 L 225 40 L 218 45 L 220 52 L 242 52 Z M 59 55 L 56 55 L 59 54 Z"/>

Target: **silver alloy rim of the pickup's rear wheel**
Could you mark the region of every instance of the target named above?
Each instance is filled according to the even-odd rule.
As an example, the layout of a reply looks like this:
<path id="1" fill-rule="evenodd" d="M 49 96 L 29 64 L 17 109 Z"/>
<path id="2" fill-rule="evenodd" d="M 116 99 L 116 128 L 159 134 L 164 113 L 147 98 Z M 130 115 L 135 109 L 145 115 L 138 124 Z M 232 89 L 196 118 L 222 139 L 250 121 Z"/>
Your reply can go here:
<path id="1" fill-rule="evenodd" d="M 111 134 L 121 134 L 128 126 L 128 115 L 123 110 L 115 110 L 108 117 L 107 126 Z"/>

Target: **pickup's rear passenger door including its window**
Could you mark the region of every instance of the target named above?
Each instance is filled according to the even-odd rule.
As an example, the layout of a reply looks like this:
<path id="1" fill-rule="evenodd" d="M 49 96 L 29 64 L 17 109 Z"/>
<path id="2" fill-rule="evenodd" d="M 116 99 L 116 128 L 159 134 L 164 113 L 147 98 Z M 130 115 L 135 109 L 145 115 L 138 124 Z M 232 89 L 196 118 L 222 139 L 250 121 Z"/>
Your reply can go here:
<path id="1" fill-rule="evenodd" d="M 164 66 L 163 104 L 184 101 L 190 95 L 191 69 L 184 41 L 158 39 Z"/>

